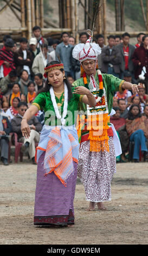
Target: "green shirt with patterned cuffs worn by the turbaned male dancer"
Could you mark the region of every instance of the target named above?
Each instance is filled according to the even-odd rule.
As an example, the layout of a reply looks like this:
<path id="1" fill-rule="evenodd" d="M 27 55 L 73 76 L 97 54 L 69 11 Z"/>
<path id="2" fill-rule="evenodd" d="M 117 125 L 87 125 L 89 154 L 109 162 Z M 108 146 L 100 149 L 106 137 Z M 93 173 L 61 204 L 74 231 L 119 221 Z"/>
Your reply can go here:
<path id="1" fill-rule="evenodd" d="M 99 84 L 99 79 L 98 79 L 98 74 L 97 72 L 95 73 L 95 81 L 97 84 Z M 103 86 L 106 91 L 106 96 L 107 96 L 107 104 L 108 104 L 108 112 L 109 114 L 112 111 L 112 105 L 113 105 L 113 96 L 114 92 L 122 92 L 122 85 L 125 82 L 124 80 L 120 80 L 118 77 L 115 77 L 113 75 L 108 75 L 108 74 L 102 74 L 102 80 L 103 80 Z M 87 83 L 89 84 L 90 78 L 87 76 Z M 84 86 L 83 82 L 83 77 L 76 80 L 73 83 L 73 86 Z M 84 103 L 80 104 L 80 109 L 83 111 L 86 111 L 86 105 Z"/>

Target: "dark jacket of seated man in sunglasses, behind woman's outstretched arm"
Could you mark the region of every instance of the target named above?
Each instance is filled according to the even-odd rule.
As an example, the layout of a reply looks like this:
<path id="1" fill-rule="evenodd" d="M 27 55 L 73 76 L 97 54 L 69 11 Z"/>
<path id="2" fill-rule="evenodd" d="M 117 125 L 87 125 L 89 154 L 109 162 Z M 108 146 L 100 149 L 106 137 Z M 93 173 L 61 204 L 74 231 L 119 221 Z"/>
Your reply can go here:
<path id="1" fill-rule="evenodd" d="M 20 115 L 16 115 L 16 117 L 11 119 L 12 132 L 17 133 L 18 139 L 23 137 L 21 132 L 21 121 L 22 121 L 22 118 L 20 117 Z M 39 121 L 35 116 L 28 121 L 28 124 L 29 125 L 33 124 L 36 127 L 37 132 L 40 132 L 42 130 L 42 125 L 39 123 Z"/>

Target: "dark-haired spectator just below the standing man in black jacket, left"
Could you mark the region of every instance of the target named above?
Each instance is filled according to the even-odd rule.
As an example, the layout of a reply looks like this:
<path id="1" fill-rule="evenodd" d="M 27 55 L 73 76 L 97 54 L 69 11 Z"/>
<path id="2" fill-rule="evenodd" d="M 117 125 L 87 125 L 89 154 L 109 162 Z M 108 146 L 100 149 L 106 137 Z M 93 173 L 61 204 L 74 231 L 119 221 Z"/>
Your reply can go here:
<path id="1" fill-rule="evenodd" d="M 30 79 L 29 79 L 29 74 L 28 74 L 28 71 L 23 69 L 21 70 L 20 72 L 20 80 L 19 80 L 19 84 L 21 86 L 21 92 L 24 94 L 24 95 L 27 95 L 28 93 L 28 83 L 30 82 Z"/>

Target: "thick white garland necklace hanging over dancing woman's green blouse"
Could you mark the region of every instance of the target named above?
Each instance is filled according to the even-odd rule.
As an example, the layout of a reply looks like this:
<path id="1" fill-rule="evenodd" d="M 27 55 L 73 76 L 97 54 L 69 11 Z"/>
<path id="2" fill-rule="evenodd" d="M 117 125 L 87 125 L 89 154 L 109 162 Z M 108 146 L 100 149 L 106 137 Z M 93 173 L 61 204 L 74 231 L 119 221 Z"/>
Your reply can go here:
<path id="1" fill-rule="evenodd" d="M 67 89 L 66 83 L 64 84 L 64 89 L 65 89 L 65 101 L 64 101 L 62 117 L 61 117 L 61 115 L 59 113 L 59 109 L 57 107 L 53 87 L 50 87 L 50 90 L 49 90 L 50 95 L 51 95 L 51 99 L 52 99 L 52 102 L 53 102 L 54 110 L 55 110 L 55 115 L 56 115 L 57 119 L 61 119 L 61 124 L 62 125 L 65 125 L 65 121 L 66 121 L 65 117 L 67 115 L 67 106 L 68 106 L 68 89 Z"/>

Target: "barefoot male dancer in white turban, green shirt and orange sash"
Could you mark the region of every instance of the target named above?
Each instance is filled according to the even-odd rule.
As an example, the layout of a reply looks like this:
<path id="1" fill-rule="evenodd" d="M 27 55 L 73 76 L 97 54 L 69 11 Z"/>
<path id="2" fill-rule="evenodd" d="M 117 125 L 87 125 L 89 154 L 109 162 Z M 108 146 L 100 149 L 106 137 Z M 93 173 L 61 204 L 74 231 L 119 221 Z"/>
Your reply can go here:
<path id="1" fill-rule="evenodd" d="M 78 176 L 83 182 L 88 211 L 105 210 L 103 202 L 111 200 L 111 180 L 116 171 L 113 130 L 110 126 L 110 113 L 114 92 L 125 89 L 138 92 L 136 84 L 125 82 L 119 78 L 102 74 L 98 69 L 98 54 L 101 48 L 91 43 L 91 35 L 86 44 L 78 44 L 73 49 L 73 57 L 80 61 L 81 78 L 73 83 L 76 92 L 79 86 L 85 86 L 96 97 L 96 106 L 81 105 L 85 115 L 79 119 L 79 162 Z M 85 121 L 84 121 L 85 120 Z"/>

